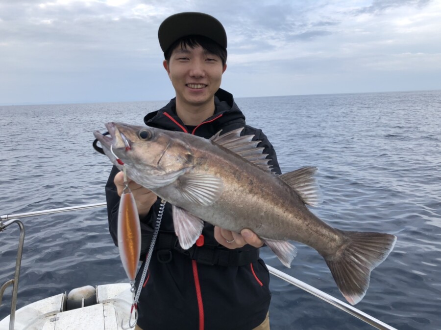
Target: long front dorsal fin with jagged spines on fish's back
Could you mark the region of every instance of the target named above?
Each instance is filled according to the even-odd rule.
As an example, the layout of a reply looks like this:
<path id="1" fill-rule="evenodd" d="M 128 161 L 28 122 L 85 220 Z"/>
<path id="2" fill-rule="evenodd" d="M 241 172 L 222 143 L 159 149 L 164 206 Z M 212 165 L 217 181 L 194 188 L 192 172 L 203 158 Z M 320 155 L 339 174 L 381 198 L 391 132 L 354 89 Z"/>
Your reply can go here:
<path id="1" fill-rule="evenodd" d="M 263 154 L 264 148 L 257 148 L 260 140 L 252 141 L 254 135 L 241 136 L 243 128 L 225 133 L 217 132 L 210 138 L 210 141 L 228 149 L 229 151 L 240 155 L 250 163 L 260 167 L 262 170 L 271 172 L 271 166 L 268 165 L 270 159 L 266 159 L 268 154 Z"/>

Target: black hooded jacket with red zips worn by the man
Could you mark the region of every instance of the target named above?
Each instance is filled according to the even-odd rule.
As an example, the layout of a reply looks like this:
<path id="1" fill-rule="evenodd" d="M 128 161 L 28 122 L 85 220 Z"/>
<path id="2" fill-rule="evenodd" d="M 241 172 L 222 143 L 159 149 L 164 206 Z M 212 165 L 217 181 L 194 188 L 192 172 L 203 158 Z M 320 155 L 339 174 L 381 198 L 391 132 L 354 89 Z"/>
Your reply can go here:
<path id="1" fill-rule="evenodd" d="M 210 138 L 222 130 L 245 128 L 243 135 L 254 134 L 262 142 L 269 164 L 280 174 L 276 154 L 265 134 L 245 124 L 245 116 L 233 96 L 219 89 L 215 94 L 216 110 L 196 127 L 186 127 L 176 115 L 175 99 L 164 108 L 147 114 L 147 126 L 169 131 L 188 132 Z M 114 166 L 106 184 L 109 230 L 117 241 L 120 197 L 113 179 L 119 170 Z M 161 200 L 152 206 L 141 221 L 141 260 L 146 259 Z M 214 238 L 214 227 L 204 224 L 199 240 L 183 250 L 174 234 L 172 207 L 166 204 L 155 250 L 151 258 L 138 303 L 138 326 L 145 330 L 251 330 L 263 322 L 270 305 L 269 272 L 259 258 L 259 249 L 245 245 L 230 250 Z M 144 263 L 143 263 L 144 264 Z M 136 279 L 138 287 L 142 267 Z"/>

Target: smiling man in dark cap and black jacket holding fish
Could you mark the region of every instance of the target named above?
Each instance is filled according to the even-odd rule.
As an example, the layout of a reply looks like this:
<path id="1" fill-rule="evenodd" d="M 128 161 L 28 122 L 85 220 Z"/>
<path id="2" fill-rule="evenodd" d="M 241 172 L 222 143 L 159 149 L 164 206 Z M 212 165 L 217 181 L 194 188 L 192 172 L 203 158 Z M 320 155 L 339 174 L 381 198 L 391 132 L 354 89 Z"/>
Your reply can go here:
<path id="1" fill-rule="evenodd" d="M 261 140 L 273 171 L 280 174 L 276 154 L 261 130 L 245 124 L 233 96 L 220 89 L 226 70 L 227 38 L 222 24 L 202 13 L 180 13 L 162 22 L 158 31 L 164 51 L 163 66 L 176 97 L 149 113 L 151 127 L 210 138 L 245 128 Z M 109 229 L 117 244 L 119 199 L 123 174 L 112 169 L 106 185 Z M 141 221 L 145 260 L 161 200 L 130 181 Z M 259 258 L 262 241 L 249 229 L 234 233 L 205 223 L 201 237 L 183 250 L 174 234 L 172 208 L 164 211 L 147 280 L 138 303 L 135 329 L 143 330 L 252 330 L 270 329 L 269 272 Z"/>

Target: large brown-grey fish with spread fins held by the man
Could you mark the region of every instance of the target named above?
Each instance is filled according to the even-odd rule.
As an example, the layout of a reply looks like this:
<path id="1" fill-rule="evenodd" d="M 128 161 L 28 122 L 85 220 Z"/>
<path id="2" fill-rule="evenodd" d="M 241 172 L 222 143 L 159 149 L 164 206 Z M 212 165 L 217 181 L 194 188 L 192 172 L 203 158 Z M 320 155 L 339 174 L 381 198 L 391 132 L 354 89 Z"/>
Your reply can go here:
<path id="1" fill-rule="evenodd" d="M 237 233 L 252 230 L 287 267 L 296 255 L 290 241 L 301 242 L 317 250 L 343 297 L 355 305 L 367 292 L 371 271 L 395 245 L 392 234 L 344 231 L 320 220 L 310 210 L 321 201 L 317 168 L 275 175 L 260 141 L 242 135 L 243 128 L 204 139 L 147 126 L 105 126 L 109 135 L 94 132 L 104 153 L 172 204 L 184 249 L 196 242 L 203 221 Z"/>

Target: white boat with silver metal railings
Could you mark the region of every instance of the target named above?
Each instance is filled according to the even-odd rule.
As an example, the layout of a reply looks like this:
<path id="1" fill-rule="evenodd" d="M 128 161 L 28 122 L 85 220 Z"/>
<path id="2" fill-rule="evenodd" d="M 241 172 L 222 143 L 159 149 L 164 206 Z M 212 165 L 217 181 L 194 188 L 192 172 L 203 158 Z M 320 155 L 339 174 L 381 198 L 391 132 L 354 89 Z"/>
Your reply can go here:
<path id="1" fill-rule="evenodd" d="M 25 242 L 25 226 L 21 219 L 41 215 L 73 212 L 83 209 L 105 207 L 106 203 L 85 204 L 43 211 L 2 215 L 0 235 L 8 227 L 17 224 L 20 228 L 19 244 L 14 276 L 0 287 L 0 306 L 5 290 L 12 286 L 11 312 L 0 321 L 0 330 L 127 330 L 136 323 L 131 313 L 133 292 L 129 283 L 83 286 L 69 293 L 47 297 L 16 310 L 20 277 L 20 265 Z M 380 330 L 396 330 L 373 316 L 350 306 L 333 296 L 320 291 L 270 265 L 270 274 L 316 296 Z"/>

